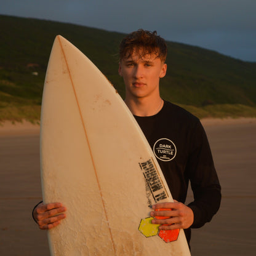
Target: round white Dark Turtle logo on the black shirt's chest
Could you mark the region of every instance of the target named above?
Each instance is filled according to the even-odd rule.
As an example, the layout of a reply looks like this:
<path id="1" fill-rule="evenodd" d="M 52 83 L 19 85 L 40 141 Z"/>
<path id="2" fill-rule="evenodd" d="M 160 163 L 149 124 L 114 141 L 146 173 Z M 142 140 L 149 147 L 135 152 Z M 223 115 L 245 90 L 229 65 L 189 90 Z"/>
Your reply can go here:
<path id="1" fill-rule="evenodd" d="M 153 151 L 156 158 L 164 162 L 174 159 L 177 153 L 176 146 L 168 138 L 160 138 L 154 143 Z"/>

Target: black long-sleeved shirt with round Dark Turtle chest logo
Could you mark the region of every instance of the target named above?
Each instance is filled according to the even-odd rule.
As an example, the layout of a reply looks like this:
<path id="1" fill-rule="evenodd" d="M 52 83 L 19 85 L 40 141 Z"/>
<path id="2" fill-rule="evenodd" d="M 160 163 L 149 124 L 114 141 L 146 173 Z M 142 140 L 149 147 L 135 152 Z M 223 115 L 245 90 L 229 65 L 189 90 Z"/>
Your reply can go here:
<path id="1" fill-rule="evenodd" d="M 199 119 L 166 101 L 158 114 L 135 119 L 158 159 L 172 197 L 184 203 L 191 182 L 194 194 L 194 201 L 188 204 L 194 213 L 191 228 L 210 222 L 220 207 L 221 188 Z M 185 230 L 188 243 L 191 228 Z"/>

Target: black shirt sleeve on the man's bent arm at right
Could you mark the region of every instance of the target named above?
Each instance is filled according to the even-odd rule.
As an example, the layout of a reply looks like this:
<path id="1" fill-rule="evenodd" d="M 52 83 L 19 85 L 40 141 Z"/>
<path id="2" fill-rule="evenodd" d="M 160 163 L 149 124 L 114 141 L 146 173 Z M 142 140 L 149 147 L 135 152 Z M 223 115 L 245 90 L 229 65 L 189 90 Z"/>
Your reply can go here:
<path id="1" fill-rule="evenodd" d="M 200 121 L 191 136 L 186 171 L 194 194 L 194 201 L 188 204 L 194 213 L 191 228 L 200 228 L 216 214 L 222 198 L 209 142 Z"/>

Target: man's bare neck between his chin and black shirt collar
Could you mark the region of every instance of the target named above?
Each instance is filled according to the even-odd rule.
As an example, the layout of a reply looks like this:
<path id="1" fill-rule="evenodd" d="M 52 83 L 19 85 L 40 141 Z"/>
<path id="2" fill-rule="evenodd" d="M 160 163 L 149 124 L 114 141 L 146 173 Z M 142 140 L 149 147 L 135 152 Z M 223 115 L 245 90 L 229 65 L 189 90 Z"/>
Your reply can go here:
<path id="1" fill-rule="evenodd" d="M 164 105 L 164 101 L 160 96 L 153 99 L 126 98 L 124 102 L 135 116 L 154 116 Z"/>

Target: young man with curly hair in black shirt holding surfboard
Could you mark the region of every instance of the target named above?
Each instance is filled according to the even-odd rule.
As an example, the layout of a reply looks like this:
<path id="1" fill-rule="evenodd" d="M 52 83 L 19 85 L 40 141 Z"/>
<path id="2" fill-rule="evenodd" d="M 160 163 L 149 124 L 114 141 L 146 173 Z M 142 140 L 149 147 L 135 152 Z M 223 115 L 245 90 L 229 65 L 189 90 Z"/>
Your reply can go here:
<path id="1" fill-rule="evenodd" d="M 162 230 L 183 228 L 189 244 L 191 228 L 209 222 L 221 200 L 206 133 L 198 118 L 160 97 L 159 79 L 167 71 L 164 39 L 155 31 L 135 31 L 122 40 L 119 55 L 118 72 L 126 86 L 124 101 L 150 143 L 175 199 L 154 205 L 151 216 L 170 218 L 152 222 L 160 224 Z M 186 206 L 189 180 L 194 201 Z M 172 210 L 155 211 L 160 208 Z M 65 218 L 65 210 L 61 203 L 41 202 L 34 208 L 33 218 L 39 228 L 50 229 Z"/>

